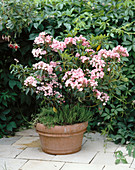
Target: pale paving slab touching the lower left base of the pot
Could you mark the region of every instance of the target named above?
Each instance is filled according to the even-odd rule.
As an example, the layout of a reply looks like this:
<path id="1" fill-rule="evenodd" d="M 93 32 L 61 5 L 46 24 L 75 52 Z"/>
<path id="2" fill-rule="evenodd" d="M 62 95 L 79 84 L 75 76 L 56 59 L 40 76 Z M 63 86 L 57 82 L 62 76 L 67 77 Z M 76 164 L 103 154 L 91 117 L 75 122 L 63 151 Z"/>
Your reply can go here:
<path id="1" fill-rule="evenodd" d="M 21 154 L 17 156 L 17 159 L 36 159 L 36 160 L 52 160 L 55 155 L 44 153 L 41 148 L 26 148 Z"/>

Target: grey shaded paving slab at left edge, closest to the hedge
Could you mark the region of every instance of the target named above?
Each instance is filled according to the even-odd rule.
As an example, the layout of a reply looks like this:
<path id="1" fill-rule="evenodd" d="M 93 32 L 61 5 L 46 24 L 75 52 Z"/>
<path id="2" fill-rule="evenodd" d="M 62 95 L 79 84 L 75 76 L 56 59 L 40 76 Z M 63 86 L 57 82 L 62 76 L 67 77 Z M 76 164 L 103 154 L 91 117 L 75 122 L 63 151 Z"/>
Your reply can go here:
<path id="1" fill-rule="evenodd" d="M 0 145 L 12 145 L 16 141 L 18 141 L 20 138 L 21 138 L 21 136 L 2 138 L 2 139 L 0 139 Z"/>

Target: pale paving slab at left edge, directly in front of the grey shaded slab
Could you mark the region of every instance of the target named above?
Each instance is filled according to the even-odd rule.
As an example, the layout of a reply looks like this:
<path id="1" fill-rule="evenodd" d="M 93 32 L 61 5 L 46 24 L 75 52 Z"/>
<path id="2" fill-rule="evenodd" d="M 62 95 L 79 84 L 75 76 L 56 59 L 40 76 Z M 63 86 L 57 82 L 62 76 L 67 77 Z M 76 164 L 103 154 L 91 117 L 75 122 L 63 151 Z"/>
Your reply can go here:
<path id="1" fill-rule="evenodd" d="M 0 158 L 15 158 L 23 149 L 12 145 L 0 145 Z"/>

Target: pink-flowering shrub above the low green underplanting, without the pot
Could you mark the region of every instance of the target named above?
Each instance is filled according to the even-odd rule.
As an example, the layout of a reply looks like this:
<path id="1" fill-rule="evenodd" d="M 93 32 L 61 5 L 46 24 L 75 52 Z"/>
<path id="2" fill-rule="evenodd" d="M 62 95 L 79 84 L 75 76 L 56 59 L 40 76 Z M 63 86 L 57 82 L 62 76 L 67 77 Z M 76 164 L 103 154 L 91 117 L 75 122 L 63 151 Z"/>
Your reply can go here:
<path id="1" fill-rule="evenodd" d="M 106 105 L 122 78 L 123 58 L 129 56 L 120 45 L 94 51 L 82 35 L 60 42 L 45 32 L 35 38 L 32 53 L 38 62 L 29 68 L 24 90 L 35 92 L 55 108 L 78 102 L 87 107 Z"/>

